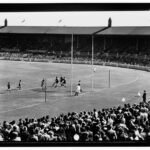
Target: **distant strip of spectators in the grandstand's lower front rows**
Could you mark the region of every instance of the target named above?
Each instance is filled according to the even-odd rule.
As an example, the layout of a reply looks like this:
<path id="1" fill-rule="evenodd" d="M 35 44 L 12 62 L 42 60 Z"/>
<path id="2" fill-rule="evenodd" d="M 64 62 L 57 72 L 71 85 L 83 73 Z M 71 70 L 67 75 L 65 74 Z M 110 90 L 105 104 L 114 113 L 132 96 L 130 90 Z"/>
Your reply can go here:
<path id="1" fill-rule="evenodd" d="M 87 62 L 91 63 L 91 54 L 88 52 L 83 52 L 78 55 L 74 54 L 74 62 Z M 4 60 L 18 60 L 18 61 L 65 61 L 71 60 L 70 53 L 50 53 L 50 54 L 39 54 L 39 53 L 10 53 L 10 52 L 0 52 L 0 59 Z M 94 62 L 102 63 L 116 63 L 116 64 L 129 64 L 129 65 L 139 65 L 139 66 L 150 66 L 150 57 L 147 55 L 130 55 L 130 54 L 94 54 Z"/>

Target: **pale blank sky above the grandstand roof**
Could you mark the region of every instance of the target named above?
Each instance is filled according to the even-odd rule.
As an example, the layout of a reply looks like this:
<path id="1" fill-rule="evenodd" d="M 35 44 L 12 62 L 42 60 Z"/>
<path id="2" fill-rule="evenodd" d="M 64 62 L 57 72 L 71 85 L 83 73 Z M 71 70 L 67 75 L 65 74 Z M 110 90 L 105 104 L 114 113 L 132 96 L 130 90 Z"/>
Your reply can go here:
<path id="1" fill-rule="evenodd" d="M 7 18 L 9 26 L 150 26 L 150 11 L 116 12 L 28 12 L 0 13 L 0 25 Z"/>

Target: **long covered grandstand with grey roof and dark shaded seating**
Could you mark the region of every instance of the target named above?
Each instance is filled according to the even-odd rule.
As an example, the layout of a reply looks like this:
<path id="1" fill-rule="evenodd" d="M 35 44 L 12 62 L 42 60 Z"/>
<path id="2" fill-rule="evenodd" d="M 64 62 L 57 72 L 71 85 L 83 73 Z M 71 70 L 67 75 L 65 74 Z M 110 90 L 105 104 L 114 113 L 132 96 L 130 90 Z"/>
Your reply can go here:
<path id="1" fill-rule="evenodd" d="M 9 52 L 19 57 L 20 54 L 22 56 L 40 54 L 45 58 L 46 56 L 70 58 L 71 35 L 73 34 L 74 58 L 90 59 L 91 35 L 103 28 L 4 26 L 0 29 L 1 56 Z M 94 37 L 94 58 L 105 62 L 148 66 L 149 39 L 149 27 L 108 28 Z"/>

